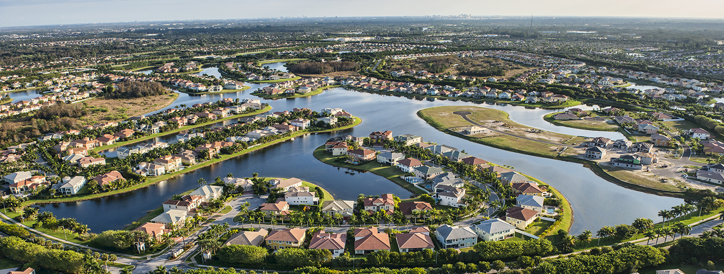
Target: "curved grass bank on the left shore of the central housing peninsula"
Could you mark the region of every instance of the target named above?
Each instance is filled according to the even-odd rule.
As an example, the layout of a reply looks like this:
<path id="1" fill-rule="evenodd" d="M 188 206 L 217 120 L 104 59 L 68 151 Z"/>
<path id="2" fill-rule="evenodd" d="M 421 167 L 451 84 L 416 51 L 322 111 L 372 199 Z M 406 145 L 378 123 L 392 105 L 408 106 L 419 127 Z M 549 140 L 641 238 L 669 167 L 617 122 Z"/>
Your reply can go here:
<path id="1" fill-rule="evenodd" d="M 413 194 L 416 195 L 427 194 L 427 191 L 423 191 L 422 189 L 417 188 L 411 183 L 408 183 L 407 181 L 400 178 L 401 176 L 408 175 L 409 173 L 403 173 L 402 170 L 397 169 L 397 167 L 383 165 L 376 160 L 366 162 L 363 165 L 348 164 L 344 162 L 345 157 L 343 155 L 332 156 L 331 152 L 324 151 L 324 145 L 321 145 L 314 150 L 314 157 L 327 165 L 334 165 L 335 167 L 346 167 L 352 170 L 366 170 L 376 175 L 380 175 L 384 178 L 392 180 L 392 182 L 397 183 L 398 185 L 402 186 L 403 188 L 411 191 Z"/>

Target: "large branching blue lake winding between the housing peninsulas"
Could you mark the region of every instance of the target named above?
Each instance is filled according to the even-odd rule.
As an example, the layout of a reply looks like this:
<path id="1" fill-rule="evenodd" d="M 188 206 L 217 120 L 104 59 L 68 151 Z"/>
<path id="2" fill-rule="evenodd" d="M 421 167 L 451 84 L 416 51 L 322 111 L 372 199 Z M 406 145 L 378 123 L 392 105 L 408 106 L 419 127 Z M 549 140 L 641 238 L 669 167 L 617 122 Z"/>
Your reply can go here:
<path id="1" fill-rule="evenodd" d="M 215 101 L 222 96 L 243 99 L 250 97 L 245 94 L 246 92 L 251 91 L 206 97 L 181 94 L 177 101 L 182 100 L 183 104 L 195 104 Z M 59 217 L 75 217 L 79 222 L 88 224 L 96 233 L 108 229 L 120 229 L 143 217 L 146 212 L 156 209 L 174 194 L 198 187 L 196 183 L 198 178 L 213 181 L 216 176 L 224 177 L 227 173 L 241 177 L 251 176 L 251 173 L 255 172 L 264 177 L 296 177 L 308 180 L 326 188 L 337 199 L 355 199 L 358 194 L 384 193 L 407 197 L 410 193 L 390 180 L 371 173 L 351 175 L 344 168 L 325 165 L 312 155 L 316 147 L 332 136 L 342 134 L 367 136 L 378 130 L 392 130 L 395 136 L 405 133 L 423 136 L 425 141 L 465 149 L 468 154 L 500 165 L 511 165 L 521 173 L 533 175 L 550 183 L 559 189 L 573 206 L 575 222 L 571 233 L 581 233 L 586 229 L 597 231 L 603 225 L 631 223 L 637 217 L 658 220 L 657 212 L 660 209 L 668 209 L 683 202 L 681 199 L 644 194 L 623 188 L 599 178 L 591 170 L 579 164 L 517 154 L 450 136 L 435 130 L 416 115 L 419 109 L 427 107 L 473 105 L 469 102 L 408 99 L 349 91 L 345 88 L 331 88 L 322 94 L 304 98 L 262 99 L 262 101 L 274 107 L 274 111 L 294 107 L 308 107 L 317 111 L 325 107 L 340 107 L 361 117 L 363 123 L 336 133 L 320 133 L 296 138 L 127 194 L 83 202 L 51 204 L 43 206 L 41 210 L 50 210 Z M 536 128 L 548 130 L 550 125 L 542 120 L 542 115 L 547 111 L 487 104 L 481 107 L 505 110 L 518 123 L 536 125 Z M 568 128 L 553 127 L 550 130 L 568 130 Z M 581 135 L 602 136 L 603 133 L 597 135 L 581 133 Z"/>

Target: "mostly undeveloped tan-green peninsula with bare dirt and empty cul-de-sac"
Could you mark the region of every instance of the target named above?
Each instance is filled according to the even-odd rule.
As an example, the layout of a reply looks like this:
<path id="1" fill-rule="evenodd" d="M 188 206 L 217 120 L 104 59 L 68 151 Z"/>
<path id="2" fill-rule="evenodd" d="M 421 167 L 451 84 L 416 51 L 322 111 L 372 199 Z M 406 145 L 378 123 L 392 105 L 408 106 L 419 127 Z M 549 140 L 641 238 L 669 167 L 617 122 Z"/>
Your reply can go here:
<path id="1" fill-rule="evenodd" d="M 607 140 L 605 142 L 610 146 L 613 141 L 607 138 L 589 139 L 543 132 L 509 120 L 505 112 L 484 107 L 432 107 L 420 110 L 418 116 L 437 130 L 479 144 L 539 157 L 579 162 L 606 180 L 639 191 L 666 196 L 684 195 L 684 189 L 675 180 L 663 181 L 651 173 L 623 169 L 609 165 L 608 162 L 596 162 L 596 159 L 601 159 L 601 155 L 598 155 L 599 158 L 594 158 L 595 155 L 588 151 L 590 149 L 581 146 L 584 143 L 594 144 L 601 140 Z M 463 116 L 477 125 L 465 120 Z M 641 146 L 650 148 L 650 144 Z"/>

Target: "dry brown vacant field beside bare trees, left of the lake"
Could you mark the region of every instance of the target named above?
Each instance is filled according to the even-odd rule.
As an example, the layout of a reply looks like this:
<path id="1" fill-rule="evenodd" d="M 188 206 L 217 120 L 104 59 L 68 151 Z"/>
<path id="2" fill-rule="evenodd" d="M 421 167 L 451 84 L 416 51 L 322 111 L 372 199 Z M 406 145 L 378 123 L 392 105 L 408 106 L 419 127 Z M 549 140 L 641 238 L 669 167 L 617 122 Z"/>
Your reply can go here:
<path id="1" fill-rule="evenodd" d="M 119 121 L 168 107 L 178 94 L 148 96 L 134 99 L 90 99 L 83 102 L 93 114 L 84 117 L 87 123 Z"/>

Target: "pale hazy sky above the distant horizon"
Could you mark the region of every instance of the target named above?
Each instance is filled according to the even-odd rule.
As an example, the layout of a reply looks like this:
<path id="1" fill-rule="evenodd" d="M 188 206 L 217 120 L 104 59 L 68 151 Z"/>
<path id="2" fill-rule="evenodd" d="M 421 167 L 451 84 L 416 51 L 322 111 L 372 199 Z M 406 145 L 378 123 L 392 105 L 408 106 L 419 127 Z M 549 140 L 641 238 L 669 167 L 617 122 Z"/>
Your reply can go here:
<path id="1" fill-rule="evenodd" d="M 0 0 L 0 27 L 252 17 L 528 15 L 722 18 L 722 0 Z"/>

